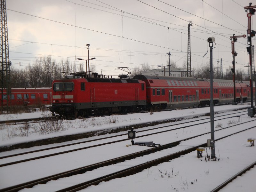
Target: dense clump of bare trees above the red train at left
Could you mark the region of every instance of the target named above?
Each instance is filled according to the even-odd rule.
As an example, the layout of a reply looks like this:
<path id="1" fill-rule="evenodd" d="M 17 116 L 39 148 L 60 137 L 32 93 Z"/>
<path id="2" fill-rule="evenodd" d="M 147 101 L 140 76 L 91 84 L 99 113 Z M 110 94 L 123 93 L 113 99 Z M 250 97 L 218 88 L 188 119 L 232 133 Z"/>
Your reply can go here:
<path id="1" fill-rule="evenodd" d="M 90 70 L 95 70 L 90 65 Z M 56 61 L 51 56 L 36 58 L 33 65 L 29 64 L 25 69 L 17 69 L 11 66 L 10 79 L 12 88 L 22 87 L 52 87 L 54 79 L 60 79 L 76 71 L 85 71 L 84 63 L 66 60 Z"/>

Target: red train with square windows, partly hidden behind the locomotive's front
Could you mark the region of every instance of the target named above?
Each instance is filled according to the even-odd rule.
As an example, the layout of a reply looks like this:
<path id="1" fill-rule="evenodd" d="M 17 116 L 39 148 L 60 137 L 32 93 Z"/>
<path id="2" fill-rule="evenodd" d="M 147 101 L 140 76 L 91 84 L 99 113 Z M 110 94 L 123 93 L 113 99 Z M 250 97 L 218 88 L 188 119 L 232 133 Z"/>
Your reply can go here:
<path id="1" fill-rule="evenodd" d="M 0 98 L 3 100 L 3 107 L 7 107 L 6 89 L 3 94 L 0 92 Z M 2 101 L 1 101 L 2 102 Z M 52 88 L 12 88 L 8 98 L 8 106 L 28 106 L 39 107 L 51 105 Z"/>

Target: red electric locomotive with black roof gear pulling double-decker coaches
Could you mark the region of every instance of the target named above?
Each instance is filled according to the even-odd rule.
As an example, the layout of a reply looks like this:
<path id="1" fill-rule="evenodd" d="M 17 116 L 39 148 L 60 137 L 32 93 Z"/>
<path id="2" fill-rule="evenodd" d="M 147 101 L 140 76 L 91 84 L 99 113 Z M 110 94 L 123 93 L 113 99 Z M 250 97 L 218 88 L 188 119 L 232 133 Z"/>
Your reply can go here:
<path id="1" fill-rule="evenodd" d="M 93 73 L 76 72 L 72 76 L 52 82 L 54 115 L 90 116 L 129 112 L 146 107 L 145 82 L 137 79 L 103 78 Z"/>

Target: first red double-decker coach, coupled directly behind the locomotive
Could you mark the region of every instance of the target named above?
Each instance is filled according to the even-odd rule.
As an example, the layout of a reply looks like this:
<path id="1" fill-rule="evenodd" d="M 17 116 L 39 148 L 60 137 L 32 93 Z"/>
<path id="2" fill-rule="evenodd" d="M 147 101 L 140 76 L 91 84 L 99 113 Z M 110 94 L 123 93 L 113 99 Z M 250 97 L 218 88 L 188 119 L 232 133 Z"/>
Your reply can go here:
<path id="1" fill-rule="evenodd" d="M 203 79 L 148 75 L 136 75 L 133 78 L 145 81 L 149 108 L 197 107 L 200 98 L 202 103 L 209 100 L 206 97 L 209 83 Z M 205 95 L 201 95 L 201 89 L 206 91 Z"/>

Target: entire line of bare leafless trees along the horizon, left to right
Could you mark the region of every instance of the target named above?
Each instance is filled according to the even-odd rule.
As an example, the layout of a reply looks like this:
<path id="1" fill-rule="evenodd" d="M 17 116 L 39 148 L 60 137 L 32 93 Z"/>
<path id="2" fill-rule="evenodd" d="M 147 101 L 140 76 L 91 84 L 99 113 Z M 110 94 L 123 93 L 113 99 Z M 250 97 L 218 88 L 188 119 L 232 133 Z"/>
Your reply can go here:
<path id="1" fill-rule="evenodd" d="M 166 65 L 168 65 L 167 63 Z M 172 68 L 177 68 L 177 65 L 172 60 L 170 61 Z M 192 68 L 191 76 L 199 78 L 210 78 L 209 72 L 210 63 L 201 64 Z M 233 73 L 231 71 L 231 66 L 223 71 L 223 79 L 233 79 Z M 95 71 L 95 66 L 90 65 L 91 71 Z M 131 78 L 135 75 L 141 74 L 143 71 L 153 69 L 152 66 L 148 64 L 143 64 L 138 67 L 131 69 Z M 84 63 L 70 61 L 68 58 L 66 60 L 56 61 L 51 56 L 44 56 L 36 58 L 33 65 L 29 64 L 25 69 L 17 69 L 11 66 L 11 87 L 21 88 L 21 87 L 51 87 L 52 81 L 54 79 L 60 79 L 64 76 L 69 75 L 72 72 L 85 71 Z M 187 63 L 183 62 L 181 73 L 182 76 L 187 76 Z M 218 69 L 216 66 L 213 67 L 213 78 L 218 78 Z M 219 79 L 220 79 L 220 68 L 219 68 Z M 236 80 L 248 81 L 248 71 L 241 69 L 236 69 Z"/>

